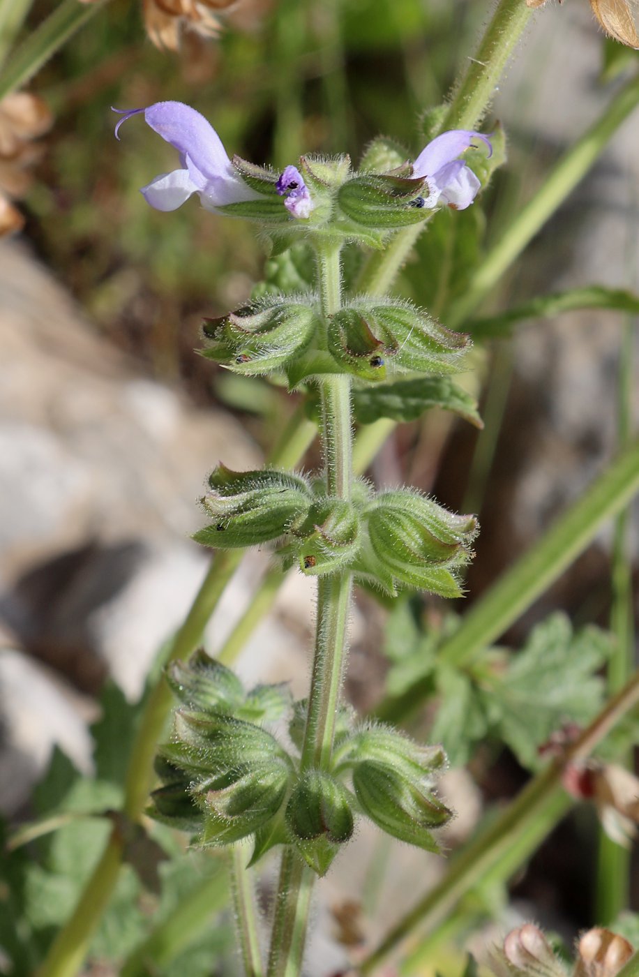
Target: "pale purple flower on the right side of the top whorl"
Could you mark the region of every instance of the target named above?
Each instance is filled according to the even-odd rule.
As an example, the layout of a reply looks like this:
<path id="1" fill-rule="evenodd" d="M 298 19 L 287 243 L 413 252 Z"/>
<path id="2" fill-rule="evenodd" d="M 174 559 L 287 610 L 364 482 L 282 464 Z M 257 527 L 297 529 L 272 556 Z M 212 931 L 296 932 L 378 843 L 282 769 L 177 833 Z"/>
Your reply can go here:
<path id="1" fill-rule="evenodd" d="M 471 205 L 481 184 L 470 167 L 457 156 L 473 146 L 474 139 L 486 143 L 489 156 L 492 155 L 488 136 L 467 129 L 450 129 L 421 150 L 412 164 L 412 172 L 415 177 L 426 178 L 430 191 L 427 207 L 436 207 L 441 200 L 453 210 L 465 210 Z"/>

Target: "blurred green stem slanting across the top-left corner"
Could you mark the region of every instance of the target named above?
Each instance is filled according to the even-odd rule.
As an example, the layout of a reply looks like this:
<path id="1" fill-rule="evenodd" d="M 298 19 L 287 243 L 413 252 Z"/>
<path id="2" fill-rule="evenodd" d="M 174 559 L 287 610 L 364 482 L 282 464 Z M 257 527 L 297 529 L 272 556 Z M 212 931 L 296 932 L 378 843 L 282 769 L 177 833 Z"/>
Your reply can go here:
<path id="1" fill-rule="evenodd" d="M 62 0 L 46 21 L 42 21 L 23 41 L 0 74 L 0 99 L 25 85 L 72 37 L 76 30 L 105 6 L 108 0 L 79 3 Z"/>

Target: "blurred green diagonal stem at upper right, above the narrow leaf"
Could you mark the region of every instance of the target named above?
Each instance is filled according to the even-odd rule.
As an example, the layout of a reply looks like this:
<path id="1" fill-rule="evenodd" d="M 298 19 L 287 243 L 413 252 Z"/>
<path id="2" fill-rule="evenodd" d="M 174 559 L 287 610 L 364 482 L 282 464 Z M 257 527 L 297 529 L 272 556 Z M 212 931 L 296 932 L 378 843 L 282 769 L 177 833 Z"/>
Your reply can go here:
<path id="1" fill-rule="evenodd" d="M 471 278 L 464 295 L 450 309 L 447 324 L 451 328 L 455 328 L 476 312 L 490 289 L 519 257 L 548 218 L 575 190 L 618 127 L 638 105 L 639 75 L 636 75 L 618 91 L 609 106 L 575 145 L 564 153 L 539 190 L 500 235 Z"/>

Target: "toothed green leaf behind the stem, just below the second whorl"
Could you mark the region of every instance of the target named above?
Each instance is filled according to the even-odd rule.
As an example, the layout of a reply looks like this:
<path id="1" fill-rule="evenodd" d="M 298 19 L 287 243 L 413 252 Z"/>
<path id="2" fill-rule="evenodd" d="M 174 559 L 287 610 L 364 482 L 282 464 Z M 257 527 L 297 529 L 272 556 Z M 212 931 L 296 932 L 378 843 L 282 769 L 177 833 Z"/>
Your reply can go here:
<path id="1" fill-rule="evenodd" d="M 450 410 L 477 428 L 484 423 L 477 402 L 448 377 L 419 377 L 377 387 L 362 387 L 353 392 L 356 419 L 373 424 L 380 417 L 394 421 L 414 421 L 433 407 Z"/>

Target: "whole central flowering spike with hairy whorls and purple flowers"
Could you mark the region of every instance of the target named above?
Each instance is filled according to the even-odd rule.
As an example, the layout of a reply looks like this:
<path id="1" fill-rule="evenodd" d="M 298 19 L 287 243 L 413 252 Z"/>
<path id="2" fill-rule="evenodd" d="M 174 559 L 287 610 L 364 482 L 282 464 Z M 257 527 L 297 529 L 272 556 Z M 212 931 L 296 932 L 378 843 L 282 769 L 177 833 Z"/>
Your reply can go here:
<path id="1" fill-rule="evenodd" d="M 309 258 L 294 288 L 276 275 L 241 308 L 206 320 L 202 355 L 237 373 L 275 374 L 304 392 L 319 424 L 323 471 L 218 465 L 201 499 L 208 522 L 194 538 L 223 550 L 271 543 L 282 568 L 318 577 L 310 694 L 292 703 L 281 687 L 245 693 L 232 671 L 203 653 L 174 662 L 168 680 L 180 706 L 151 798 L 156 818 L 202 846 L 252 839 L 251 865 L 284 847 L 269 973 L 293 973 L 301 965 L 295 916 L 308 887 L 300 867 L 324 874 L 362 816 L 428 851 L 439 850 L 432 831 L 450 818 L 435 789 L 442 748 L 358 723 L 340 701 L 353 580 L 391 596 L 421 589 L 457 597 L 478 530 L 473 516 L 453 515 L 414 489 L 376 492 L 353 477 L 353 385 L 458 371 L 470 344 L 408 302 L 347 294 L 341 255 L 354 246 L 383 249 L 438 207 L 470 206 L 478 174 L 490 174 L 492 148 L 481 133 L 453 130 L 413 160 L 380 139 L 358 170 L 345 155 L 302 156 L 275 172 L 231 159 L 209 123 L 176 102 L 122 112 L 116 135 L 142 113 L 181 156 L 179 168 L 142 190 L 152 207 L 171 211 L 196 194 L 207 210 L 269 234 L 276 263 L 291 248 Z M 473 168 L 466 150 L 475 153 Z"/>

